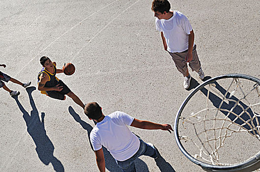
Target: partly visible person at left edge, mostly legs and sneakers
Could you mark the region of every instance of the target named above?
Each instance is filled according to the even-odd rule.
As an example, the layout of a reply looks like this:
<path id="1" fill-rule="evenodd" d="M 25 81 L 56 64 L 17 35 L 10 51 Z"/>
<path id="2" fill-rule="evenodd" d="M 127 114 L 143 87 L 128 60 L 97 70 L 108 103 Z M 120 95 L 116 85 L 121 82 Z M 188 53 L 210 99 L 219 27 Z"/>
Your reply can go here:
<path id="1" fill-rule="evenodd" d="M 4 68 L 6 67 L 5 64 L 0 64 L 0 66 L 2 66 L 2 67 L 4 67 Z M 21 85 L 21 86 L 23 86 L 23 87 L 25 87 L 25 88 L 26 88 L 27 86 L 30 86 L 30 85 L 31 85 L 31 82 L 21 83 L 20 81 L 14 79 L 14 78 L 11 78 L 10 76 L 8 76 L 8 75 L 6 75 L 5 73 L 2 73 L 2 72 L 0 71 L 0 88 L 2 87 L 4 90 L 8 91 L 11 96 L 19 95 L 20 92 L 19 92 L 19 91 L 10 90 L 7 86 L 5 86 L 5 84 L 4 84 L 2 81 L 6 82 L 6 83 L 8 83 L 8 81 L 11 81 L 11 82 L 13 82 L 13 83 L 15 83 L 15 84 L 19 84 L 19 85 Z"/>

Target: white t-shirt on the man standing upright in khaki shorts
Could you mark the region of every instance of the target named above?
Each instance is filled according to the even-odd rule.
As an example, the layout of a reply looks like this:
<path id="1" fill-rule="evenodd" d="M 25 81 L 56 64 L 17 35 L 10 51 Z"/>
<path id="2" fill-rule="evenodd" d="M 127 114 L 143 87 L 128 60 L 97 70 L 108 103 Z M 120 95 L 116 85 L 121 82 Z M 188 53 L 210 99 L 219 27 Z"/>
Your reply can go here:
<path id="1" fill-rule="evenodd" d="M 156 18 L 155 24 L 156 29 L 163 32 L 168 52 L 180 53 L 188 50 L 192 26 L 185 15 L 179 11 L 173 11 L 173 16 L 170 19 L 159 20 Z"/>

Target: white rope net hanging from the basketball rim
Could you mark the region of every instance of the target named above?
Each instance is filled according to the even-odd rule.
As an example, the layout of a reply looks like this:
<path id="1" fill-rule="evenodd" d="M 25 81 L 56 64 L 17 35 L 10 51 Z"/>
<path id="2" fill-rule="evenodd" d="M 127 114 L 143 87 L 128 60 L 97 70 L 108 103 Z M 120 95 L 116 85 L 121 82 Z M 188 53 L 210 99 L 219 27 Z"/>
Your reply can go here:
<path id="1" fill-rule="evenodd" d="M 229 85 L 229 84 L 228 84 Z M 224 146 L 227 138 L 234 133 L 247 132 L 260 141 L 260 111 L 255 109 L 260 106 L 260 86 L 254 83 L 253 86 L 241 86 L 238 78 L 232 78 L 231 84 L 228 86 L 226 93 L 220 93 L 216 89 L 216 84 L 208 84 L 204 86 L 207 89 L 206 108 L 198 110 L 198 112 L 189 112 L 190 115 L 181 115 L 179 124 L 182 122 L 184 129 L 188 127 L 194 128 L 192 136 L 190 132 L 187 135 L 179 136 L 182 142 L 191 142 L 195 145 L 193 149 L 197 149 L 193 154 L 195 159 L 208 162 L 212 165 L 227 166 L 230 164 L 220 162 L 219 151 Z M 245 87 L 250 88 L 245 91 Z M 240 99 L 236 99 L 235 94 L 241 95 Z M 216 95 L 220 99 L 218 107 L 212 107 L 210 95 Z M 251 102 L 252 94 L 257 97 L 257 102 Z M 228 102 L 228 103 L 227 103 Z M 224 104 L 232 104 L 229 109 L 223 108 Z M 246 104 L 246 106 L 245 106 Z M 259 108 L 259 107 L 258 107 Z M 240 113 L 237 113 L 240 109 Z M 256 113 L 258 111 L 258 113 Z M 237 122 L 239 121 L 239 122 Z M 183 134 L 183 133 L 181 133 Z M 260 150 L 256 149 L 256 150 Z M 255 155 L 254 152 L 253 154 Z"/>

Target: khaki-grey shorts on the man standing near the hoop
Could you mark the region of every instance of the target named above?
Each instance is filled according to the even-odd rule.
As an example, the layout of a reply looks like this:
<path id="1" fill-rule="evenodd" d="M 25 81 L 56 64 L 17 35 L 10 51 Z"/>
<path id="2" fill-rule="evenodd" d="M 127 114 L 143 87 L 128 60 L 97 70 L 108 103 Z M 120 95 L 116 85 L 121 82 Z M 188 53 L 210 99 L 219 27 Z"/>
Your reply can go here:
<path id="1" fill-rule="evenodd" d="M 188 70 L 188 65 L 187 65 L 187 62 L 185 61 L 187 52 L 188 52 L 188 50 L 181 52 L 181 53 L 168 52 L 171 55 L 178 71 L 181 72 L 183 76 L 186 75 L 187 70 Z M 193 47 L 193 59 L 192 59 L 192 61 L 189 62 L 189 66 L 192 68 L 192 71 L 196 71 L 196 72 L 198 72 L 198 70 L 200 68 L 200 61 L 197 56 L 196 45 Z"/>

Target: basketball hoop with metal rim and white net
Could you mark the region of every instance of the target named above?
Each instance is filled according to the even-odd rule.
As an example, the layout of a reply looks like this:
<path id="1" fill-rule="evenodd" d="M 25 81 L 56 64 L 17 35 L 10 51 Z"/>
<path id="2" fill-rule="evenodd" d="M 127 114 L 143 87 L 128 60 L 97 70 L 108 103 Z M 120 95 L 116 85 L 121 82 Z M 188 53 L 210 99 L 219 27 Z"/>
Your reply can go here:
<path id="1" fill-rule="evenodd" d="M 207 172 L 259 169 L 259 89 L 259 79 L 243 74 L 218 76 L 197 86 L 174 123 L 184 155 Z"/>

